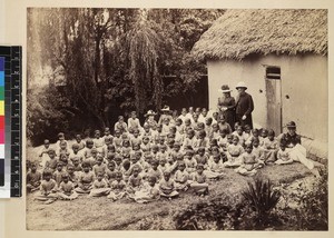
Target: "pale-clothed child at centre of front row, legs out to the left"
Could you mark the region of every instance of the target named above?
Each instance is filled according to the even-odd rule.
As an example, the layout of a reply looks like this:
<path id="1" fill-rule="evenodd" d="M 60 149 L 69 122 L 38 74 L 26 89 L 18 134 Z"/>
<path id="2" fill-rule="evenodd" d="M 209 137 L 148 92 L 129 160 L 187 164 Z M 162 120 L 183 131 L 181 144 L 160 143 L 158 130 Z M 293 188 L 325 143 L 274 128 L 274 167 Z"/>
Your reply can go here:
<path id="1" fill-rule="evenodd" d="M 144 184 L 139 191 L 135 192 L 132 198 L 138 204 L 147 204 L 158 200 L 160 198 L 160 190 L 157 185 L 157 178 L 155 176 L 148 177 L 147 182 Z"/>

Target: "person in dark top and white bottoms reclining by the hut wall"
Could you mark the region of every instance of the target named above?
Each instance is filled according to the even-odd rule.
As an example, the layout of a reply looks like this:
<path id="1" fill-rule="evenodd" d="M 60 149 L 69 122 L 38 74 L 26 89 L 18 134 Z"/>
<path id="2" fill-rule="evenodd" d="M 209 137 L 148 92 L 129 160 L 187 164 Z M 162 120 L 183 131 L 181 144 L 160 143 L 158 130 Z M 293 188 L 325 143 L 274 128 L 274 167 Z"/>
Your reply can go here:
<path id="1" fill-rule="evenodd" d="M 314 175 L 318 175 L 317 169 L 311 159 L 306 158 L 306 148 L 302 146 L 301 136 L 296 132 L 296 122 L 289 121 L 286 125 L 287 132 L 279 136 L 279 141 L 286 146 L 288 156 L 294 161 L 298 161 L 306 166 Z"/>

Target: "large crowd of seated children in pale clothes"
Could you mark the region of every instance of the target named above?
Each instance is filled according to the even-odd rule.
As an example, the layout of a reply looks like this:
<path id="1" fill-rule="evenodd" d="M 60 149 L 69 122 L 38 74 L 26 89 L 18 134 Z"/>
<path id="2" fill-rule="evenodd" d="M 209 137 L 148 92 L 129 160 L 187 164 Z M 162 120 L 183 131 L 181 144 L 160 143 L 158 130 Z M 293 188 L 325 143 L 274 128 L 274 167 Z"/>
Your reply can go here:
<path id="1" fill-rule="evenodd" d="M 227 168 L 253 176 L 265 165 L 292 162 L 273 130 L 236 123 L 233 131 L 223 116 L 208 117 L 205 109 L 165 112 L 160 123 L 153 111 L 146 117 L 141 127 L 136 112 L 128 123 L 120 116 L 114 135 L 105 128 L 104 136 L 96 130 L 84 141 L 77 135 L 71 145 L 62 132 L 53 147 L 46 139 L 27 173 L 27 190 L 39 190 L 35 198 L 46 204 L 82 194 L 149 202 L 188 189 L 205 196 L 208 180 L 223 178 Z"/>

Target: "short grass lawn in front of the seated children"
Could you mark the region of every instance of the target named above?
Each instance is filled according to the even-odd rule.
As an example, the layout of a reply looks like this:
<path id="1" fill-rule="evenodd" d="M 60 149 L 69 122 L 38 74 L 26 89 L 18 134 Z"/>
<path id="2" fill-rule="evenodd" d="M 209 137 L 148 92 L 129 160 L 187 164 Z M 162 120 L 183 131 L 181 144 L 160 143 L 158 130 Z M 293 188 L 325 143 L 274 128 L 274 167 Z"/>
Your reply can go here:
<path id="1" fill-rule="evenodd" d="M 301 163 L 286 166 L 267 166 L 259 172 L 274 184 L 289 184 L 296 179 L 313 176 Z M 238 197 L 246 187 L 249 177 L 243 177 L 226 169 L 226 176 L 218 181 L 210 181 L 209 196 L 197 197 L 187 191 L 171 201 L 160 199 L 156 202 L 140 205 L 124 199 L 112 202 L 106 197 L 89 198 L 80 196 L 73 201 L 58 200 L 51 205 L 33 200 L 27 196 L 28 230 L 134 230 L 146 229 L 140 222 L 151 219 L 159 229 L 175 229 L 173 217 L 188 205 L 200 200 L 219 197 L 222 194 Z M 144 227 L 143 227 L 144 226 Z"/>

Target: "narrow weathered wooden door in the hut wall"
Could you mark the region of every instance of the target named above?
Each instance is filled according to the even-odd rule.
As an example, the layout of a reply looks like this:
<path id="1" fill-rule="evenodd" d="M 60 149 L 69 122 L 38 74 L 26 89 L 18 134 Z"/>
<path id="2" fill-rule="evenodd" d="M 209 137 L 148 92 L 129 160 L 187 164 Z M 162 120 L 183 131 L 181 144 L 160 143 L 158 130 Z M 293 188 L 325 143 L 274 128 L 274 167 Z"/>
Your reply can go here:
<path id="1" fill-rule="evenodd" d="M 281 68 L 266 67 L 267 129 L 282 133 Z"/>

